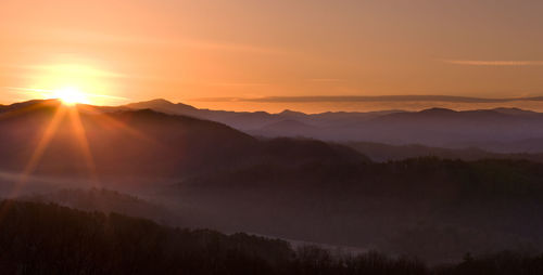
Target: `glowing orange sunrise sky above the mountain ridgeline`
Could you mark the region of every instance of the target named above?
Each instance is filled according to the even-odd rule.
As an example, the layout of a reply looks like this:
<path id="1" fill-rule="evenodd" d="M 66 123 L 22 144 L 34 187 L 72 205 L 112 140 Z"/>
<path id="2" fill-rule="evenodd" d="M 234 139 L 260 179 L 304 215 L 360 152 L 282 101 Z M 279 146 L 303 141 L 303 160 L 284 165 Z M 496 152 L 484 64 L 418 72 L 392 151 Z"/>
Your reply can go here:
<path id="1" fill-rule="evenodd" d="M 535 0 L 2 0 L 0 103 L 63 86 L 97 104 L 224 109 L 254 109 L 225 97 L 538 96 L 542 12 Z"/>

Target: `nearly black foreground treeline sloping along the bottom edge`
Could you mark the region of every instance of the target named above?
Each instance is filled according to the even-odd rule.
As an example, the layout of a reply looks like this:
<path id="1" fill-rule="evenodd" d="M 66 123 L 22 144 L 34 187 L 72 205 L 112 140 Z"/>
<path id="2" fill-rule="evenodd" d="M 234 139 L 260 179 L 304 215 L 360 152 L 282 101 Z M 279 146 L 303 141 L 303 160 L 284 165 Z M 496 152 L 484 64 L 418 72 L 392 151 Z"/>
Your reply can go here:
<path id="1" fill-rule="evenodd" d="M 541 274 L 543 256 L 501 252 L 427 266 L 207 230 L 181 230 L 53 204 L 0 205 L 2 274 Z"/>

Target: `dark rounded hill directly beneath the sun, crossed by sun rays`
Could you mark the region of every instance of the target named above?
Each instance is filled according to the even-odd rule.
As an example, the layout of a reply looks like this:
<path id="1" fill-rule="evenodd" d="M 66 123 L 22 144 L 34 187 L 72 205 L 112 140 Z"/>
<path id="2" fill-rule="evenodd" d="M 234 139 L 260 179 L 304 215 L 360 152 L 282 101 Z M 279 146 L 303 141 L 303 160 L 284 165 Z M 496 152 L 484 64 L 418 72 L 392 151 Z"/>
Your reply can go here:
<path id="1" fill-rule="evenodd" d="M 277 157 L 282 148 L 266 150 L 266 141 L 218 122 L 150 109 L 101 112 L 81 105 L 77 108 L 78 126 L 73 112 L 59 106 L 55 101 L 36 101 L 12 105 L 2 113 L 0 169 L 24 171 L 40 139 L 47 136 L 47 128 L 62 112 L 65 114 L 56 121 L 54 134 L 35 167 L 38 173 L 84 174 L 91 165 L 100 175 L 168 178 L 228 169 L 256 159 L 286 161 Z M 318 146 L 329 147 L 325 143 Z M 85 155 L 87 149 L 90 156 Z M 313 159 L 314 149 L 299 152 L 294 160 L 318 161 Z M 365 160 L 363 156 L 359 159 Z"/>

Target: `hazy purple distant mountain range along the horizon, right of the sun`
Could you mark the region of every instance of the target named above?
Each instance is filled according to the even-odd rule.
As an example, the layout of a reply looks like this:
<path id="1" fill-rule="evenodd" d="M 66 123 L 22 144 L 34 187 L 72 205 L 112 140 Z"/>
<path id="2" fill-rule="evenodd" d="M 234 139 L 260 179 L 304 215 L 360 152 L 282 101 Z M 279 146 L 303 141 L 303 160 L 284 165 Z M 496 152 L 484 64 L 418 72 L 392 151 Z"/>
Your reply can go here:
<path id="1" fill-rule="evenodd" d="M 213 120 L 256 136 L 304 136 L 334 142 L 420 144 L 447 148 L 479 147 L 496 153 L 543 152 L 543 114 L 518 108 L 323 114 L 285 110 L 268 114 L 198 109 L 165 100 L 124 107 L 151 108 Z"/>

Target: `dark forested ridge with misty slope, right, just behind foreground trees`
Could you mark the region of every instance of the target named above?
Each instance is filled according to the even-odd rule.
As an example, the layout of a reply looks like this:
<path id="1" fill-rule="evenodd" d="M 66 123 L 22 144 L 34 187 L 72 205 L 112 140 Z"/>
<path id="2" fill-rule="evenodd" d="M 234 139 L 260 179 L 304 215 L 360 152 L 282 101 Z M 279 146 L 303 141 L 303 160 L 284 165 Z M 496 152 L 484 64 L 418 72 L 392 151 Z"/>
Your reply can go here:
<path id="1" fill-rule="evenodd" d="M 433 157 L 353 165 L 269 160 L 186 179 L 178 197 L 213 221 L 206 227 L 443 262 L 466 251 L 539 250 L 542 168 Z"/>

